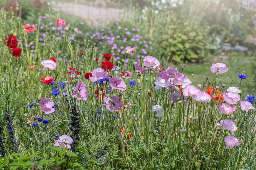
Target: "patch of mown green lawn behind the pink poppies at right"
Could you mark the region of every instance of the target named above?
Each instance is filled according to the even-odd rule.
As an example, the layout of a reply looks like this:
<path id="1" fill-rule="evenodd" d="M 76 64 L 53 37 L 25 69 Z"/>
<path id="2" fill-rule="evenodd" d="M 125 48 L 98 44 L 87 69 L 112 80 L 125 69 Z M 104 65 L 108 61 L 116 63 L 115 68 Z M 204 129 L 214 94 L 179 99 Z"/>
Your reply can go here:
<path id="1" fill-rule="evenodd" d="M 203 64 L 188 64 L 185 69 L 185 74 L 187 74 L 191 81 L 193 80 L 193 85 L 197 86 L 198 83 L 203 83 L 202 80 L 206 81 L 207 77 L 210 80 L 210 77 L 214 76 L 210 71 L 210 67 L 212 63 L 220 63 L 220 58 L 221 56 L 214 56 Z M 246 63 L 243 64 L 243 61 L 246 61 Z M 256 56 L 236 56 L 236 54 L 232 53 L 228 56 L 223 56 L 222 63 L 226 64 L 227 67 L 230 67 L 228 72 L 219 76 L 222 83 L 225 83 L 227 87 L 239 86 L 240 79 L 238 78 L 238 74 L 245 71 L 244 74 L 246 74 L 247 78 L 242 80 L 240 86 L 240 89 L 243 91 L 242 96 L 245 97 L 247 94 L 252 94 L 254 91 L 253 76 L 256 74 Z M 240 67 L 240 69 L 237 70 L 237 67 Z M 191 74 L 194 74 L 193 78 Z M 234 80 L 232 81 L 233 78 Z"/>

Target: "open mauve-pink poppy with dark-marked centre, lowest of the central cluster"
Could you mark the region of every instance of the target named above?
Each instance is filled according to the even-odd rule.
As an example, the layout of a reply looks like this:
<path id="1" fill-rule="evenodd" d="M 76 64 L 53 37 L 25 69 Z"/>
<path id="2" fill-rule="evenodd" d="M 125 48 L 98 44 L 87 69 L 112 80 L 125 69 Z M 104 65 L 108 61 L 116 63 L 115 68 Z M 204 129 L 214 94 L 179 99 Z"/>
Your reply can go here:
<path id="1" fill-rule="evenodd" d="M 118 96 L 112 96 L 112 98 L 104 97 L 104 102 L 105 104 L 103 104 L 103 106 L 105 106 L 106 109 L 108 109 L 110 112 L 120 111 L 120 107 L 123 106 L 123 102 L 119 99 Z"/>

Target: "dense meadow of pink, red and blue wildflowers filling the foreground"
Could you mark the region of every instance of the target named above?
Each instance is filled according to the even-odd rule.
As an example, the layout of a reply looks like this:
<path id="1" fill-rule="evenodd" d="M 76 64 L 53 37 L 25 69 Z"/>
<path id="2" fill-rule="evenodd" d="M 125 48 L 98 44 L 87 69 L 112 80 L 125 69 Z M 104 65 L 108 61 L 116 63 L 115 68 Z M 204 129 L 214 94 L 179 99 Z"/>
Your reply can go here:
<path id="1" fill-rule="evenodd" d="M 256 169 L 250 68 L 197 76 L 187 41 L 177 61 L 143 28 L 19 7 L 0 10 L 0 169 Z"/>

